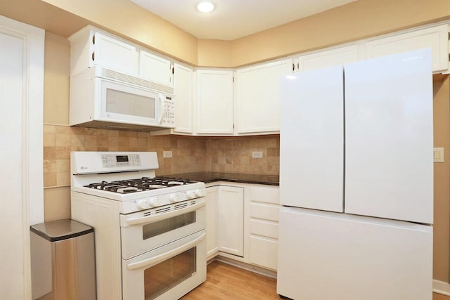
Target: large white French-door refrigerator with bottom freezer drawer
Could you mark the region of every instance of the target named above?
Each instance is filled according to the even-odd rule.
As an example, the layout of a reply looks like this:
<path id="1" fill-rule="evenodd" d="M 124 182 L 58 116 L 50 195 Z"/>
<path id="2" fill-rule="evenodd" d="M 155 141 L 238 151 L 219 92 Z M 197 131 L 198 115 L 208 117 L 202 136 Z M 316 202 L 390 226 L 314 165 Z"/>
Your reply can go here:
<path id="1" fill-rule="evenodd" d="M 278 294 L 432 299 L 432 126 L 430 49 L 283 78 Z"/>

